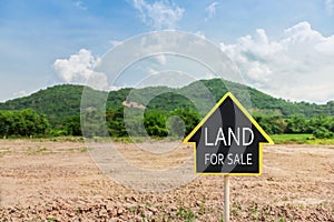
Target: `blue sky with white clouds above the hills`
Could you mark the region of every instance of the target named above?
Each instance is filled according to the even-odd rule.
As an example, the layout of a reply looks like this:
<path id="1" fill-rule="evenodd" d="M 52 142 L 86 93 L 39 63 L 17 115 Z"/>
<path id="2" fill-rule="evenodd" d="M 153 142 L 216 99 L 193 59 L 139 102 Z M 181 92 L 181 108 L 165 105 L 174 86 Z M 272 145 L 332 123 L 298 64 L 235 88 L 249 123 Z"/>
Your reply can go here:
<path id="1" fill-rule="evenodd" d="M 214 42 L 247 84 L 275 97 L 334 99 L 334 0 L 0 0 L 0 101 L 91 75 L 106 82 L 94 70 L 100 58 L 157 30 Z"/>

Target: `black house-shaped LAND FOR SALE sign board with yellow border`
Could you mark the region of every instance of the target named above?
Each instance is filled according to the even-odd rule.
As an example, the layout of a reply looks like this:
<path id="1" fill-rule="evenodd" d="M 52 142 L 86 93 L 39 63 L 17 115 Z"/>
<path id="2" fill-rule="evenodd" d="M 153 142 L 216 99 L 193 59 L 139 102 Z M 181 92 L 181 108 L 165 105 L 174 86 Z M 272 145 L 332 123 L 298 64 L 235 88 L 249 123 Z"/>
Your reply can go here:
<path id="1" fill-rule="evenodd" d="M 199 174 L 259 175 L 264 143 L 274 144 L 238 100 L 227 92 L 187 135 Z"/>

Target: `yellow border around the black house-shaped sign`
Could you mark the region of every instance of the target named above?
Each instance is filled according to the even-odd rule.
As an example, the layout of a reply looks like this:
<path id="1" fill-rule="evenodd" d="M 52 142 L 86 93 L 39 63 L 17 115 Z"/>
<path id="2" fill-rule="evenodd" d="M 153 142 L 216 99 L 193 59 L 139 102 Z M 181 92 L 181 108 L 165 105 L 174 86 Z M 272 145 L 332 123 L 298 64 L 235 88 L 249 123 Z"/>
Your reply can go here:
<path id="1" fill-rule="evenodd" d="M 252 124 L 261 132 L 261 134 L 268 142 L 259 142 L 258 143 L 258 173 L 197 173 L 196 172 L 196 142 L 189 142 L 190 138 L 199 130 L 199 128 L 207 121 L 207 119 L 220 107 L 220 104 L 227 99 L 230 98 L 233 102 L 242 110 L 242 112 L 248 118 Z M 254 120 L 254 118 L 247 112 L 247 110 L 242 105 L 242 103 L 230 93 L 227 92 L 225 95 L 215 104 L 215 107 L 203 118 L 203 120 L 194 128 L 194 130 L 184 139 L 184 144 L 189 144 L 194 147 L 194 171 L 198 175 L 261 175 L 263 170 L 263 144 L 274 144 L 274 141 L 269 138 L 269 135 L 259 127 L 259 124 Z"/>

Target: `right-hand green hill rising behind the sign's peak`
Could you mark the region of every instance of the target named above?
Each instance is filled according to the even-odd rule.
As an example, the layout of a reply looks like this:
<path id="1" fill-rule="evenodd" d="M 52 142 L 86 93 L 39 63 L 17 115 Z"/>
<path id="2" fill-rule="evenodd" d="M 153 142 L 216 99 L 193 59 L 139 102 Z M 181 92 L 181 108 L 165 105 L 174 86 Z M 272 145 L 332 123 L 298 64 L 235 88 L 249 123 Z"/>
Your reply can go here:
<path id="1" fill-rule="evenodd" d="M 187 99 L 191 98 L 193 101 L 199 103 L 198 107 L 202 110 L 208 111 L 212 107 L 207 107 L 206 103 L 206 101 L 209 101 L 207 98 L 209 93 L 205 93 L 207 90 L 212 93 L 215 101 L 218 101 L 227 91 L 232 91 L 243 105 L 255 114 L 263 113 L 266 115 L 283 117 L 301 115 L 305 118 L 318 117 L 322 114 L 334 115 L 334 101 L 330 101 L 326 104 L 289 102 L 236 82 L 224 81 L 223 84 L 219 79 L 199 80 L 184 88 L 173 90 L 166 87 L 135 89 L 132 90 L 130 98 L 139 103 L 148 103 L 148 109 L 166 111 L 171 111 L 177 108 L 195 109 L 194 103 Z M 155 94 L 159 95 L 150 101 L 146 101 L 147 98 L 153 98 Z M 247 97 L 250 99 L 250 104 Z"/>

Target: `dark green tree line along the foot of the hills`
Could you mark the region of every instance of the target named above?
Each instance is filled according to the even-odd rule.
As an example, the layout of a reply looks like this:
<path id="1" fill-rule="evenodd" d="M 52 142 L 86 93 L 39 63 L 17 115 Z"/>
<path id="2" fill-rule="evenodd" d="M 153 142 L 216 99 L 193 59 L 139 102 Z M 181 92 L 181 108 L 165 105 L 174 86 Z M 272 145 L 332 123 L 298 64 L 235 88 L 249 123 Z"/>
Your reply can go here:
<path id="1" fill-rule="evenodd" d="M 0 111 L 0 137 L 58 137 L 82 135 L 81 118 L 85 118 L 86 137 L 114 137 L 131 135 L 143 137 L 184 137 L 187 135 L 200 121 L 198 112 L 190 108 L 164 111 L 147 109 L 144 115 L 140 110 L 126 108 L 108 109 L 106 112 L 89 110 L 86 113 L 71 115 L 57 125 L 49 124 L 45 114 L 39 114 L 31 109 L 21 111 Z M 334 137 L 334 117 L 318 115 L 305 118 L 301 115 L 283 117 L 255 114 L 254 119 L 268 134 L 282 133 L 312 133 L 316 138 Z M 107 133 L 102 130 L 106 122 Z M 143 128 L 144 125 L 144 128 Z"/>

